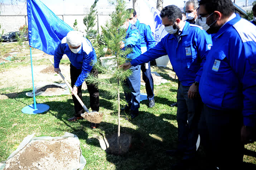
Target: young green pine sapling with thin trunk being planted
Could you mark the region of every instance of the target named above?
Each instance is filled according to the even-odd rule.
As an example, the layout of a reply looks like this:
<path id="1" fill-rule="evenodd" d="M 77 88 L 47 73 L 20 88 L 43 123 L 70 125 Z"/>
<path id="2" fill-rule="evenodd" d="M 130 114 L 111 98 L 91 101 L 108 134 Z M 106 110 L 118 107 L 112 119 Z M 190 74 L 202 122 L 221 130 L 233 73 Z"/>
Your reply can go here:
<path id="1" fill-rule="evenodd" d="M 116 102 L 112 106 L 118 112 L 117 154 L 120 154 L 120 105 L 126 105 L 126 101 L 120 99 L 120 91 L 126 78 L 131 75 L 131 71 L 123 70 L 118 66 L 127 62 L 126 56 L 131 53 L 132 49 L 126 48 L 125 50 L 120 50 L 119 43 L 120 41 L 125 41 L 126 29 L 121 28 L 121 26 L 129 18 L 130 13 L 126 11 L 125 0 L 116 0 L 111 3 L 115 4 L 116 10 L 110 15 L 110 21 L 107 21 L 105 27 L 102 27 L 102 33 L 103 41 L 106 43 L 108 52 L 116 56 L 113 59 L 115 64 L 109 67 L 103 67 L 97 62 L 95 67 L 104 76 L 97 78 L 89 75 L 86 80 L 90 83 L 97 84 L 101 90 L 110 91 L 111 96 L 116 99 Z M 129 89 L 124 90 L 129 91 Z"/>

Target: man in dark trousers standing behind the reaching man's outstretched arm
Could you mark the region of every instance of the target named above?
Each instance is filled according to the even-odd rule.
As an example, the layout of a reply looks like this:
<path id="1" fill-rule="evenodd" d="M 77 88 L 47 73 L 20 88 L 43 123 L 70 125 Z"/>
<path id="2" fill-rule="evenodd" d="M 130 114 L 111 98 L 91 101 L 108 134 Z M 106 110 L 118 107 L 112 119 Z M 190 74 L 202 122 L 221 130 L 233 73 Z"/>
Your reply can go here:
<path id="1" fill-rule="evenodd" d="M 149 25 L 140 23 L 140 21 L 137 19 L 137 14 L 134 9 L 128 9 L 128 11 L 131 13 L 129 22 L 132 25 L 135 25 L 137 29 L 140 31 L 140 48 L 141 48 L 141 54 L 143 54 L 147 50 L 155 47 L 155 40 L 154 40 L 153 34 L 151 32 Z M 154 81 L 151 75 L 150 61 L 147 63 L 141 64 L 141 71 L 142 71 L 142 78 L 145 82 L 147 97 L 149 100 L 149 108 L 152 108 L 155 106 L 155 100 L 154 100 Z"/>

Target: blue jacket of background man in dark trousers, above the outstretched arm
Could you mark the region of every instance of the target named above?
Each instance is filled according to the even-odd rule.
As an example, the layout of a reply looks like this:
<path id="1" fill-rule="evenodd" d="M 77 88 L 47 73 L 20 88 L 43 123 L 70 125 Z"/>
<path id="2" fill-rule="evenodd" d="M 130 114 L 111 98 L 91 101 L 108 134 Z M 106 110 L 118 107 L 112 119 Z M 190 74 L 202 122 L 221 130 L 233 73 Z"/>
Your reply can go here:
<path id="1" fill-rule="evenodd" d="M 139 20 L 134 24 L 140 31 L 140 46 L 147 47 L 147 50 L 155 47 L 155 40 L 149 25 L 140 23 Z"/>

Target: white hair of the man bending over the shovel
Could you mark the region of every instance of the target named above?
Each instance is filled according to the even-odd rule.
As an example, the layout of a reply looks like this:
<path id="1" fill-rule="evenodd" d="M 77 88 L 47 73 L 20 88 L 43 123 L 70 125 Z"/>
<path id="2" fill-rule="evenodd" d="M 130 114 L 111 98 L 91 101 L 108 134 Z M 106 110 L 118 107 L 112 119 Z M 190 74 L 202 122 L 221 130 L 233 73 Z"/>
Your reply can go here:
<path id="1" fill-rule="evenodd" d="M 69 31 L 66 39 L 69 46 L 77 47 L 82 44 L 83 35 L 79 31 Z"/>

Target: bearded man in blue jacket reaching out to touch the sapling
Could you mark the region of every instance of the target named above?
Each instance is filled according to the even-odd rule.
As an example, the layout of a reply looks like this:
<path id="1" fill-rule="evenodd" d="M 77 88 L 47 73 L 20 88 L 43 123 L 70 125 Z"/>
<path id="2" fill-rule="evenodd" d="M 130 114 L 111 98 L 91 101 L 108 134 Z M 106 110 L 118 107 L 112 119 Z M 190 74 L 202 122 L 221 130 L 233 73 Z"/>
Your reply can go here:
<path id="1" fill-rule="evenodd" d="M 183 161 L 192 162 L 196 153 L 197 126 L 202 107 L 198 84 L 206 58 L 205 53 L 211 49 L 212 40 L 201 27 L 182 21 L 182 11 L 175 5 L 164 7 L 160 16 L 169 34 L 154 48 L 121 67 L 129 69 L 131 66 L 137 66 L 163 55 L 169 56 L 181 82 L 177 97 L 178 150 L 169 153 L 183 155 Z M 185 162 L 183 165 L 190 165 Z"/>

